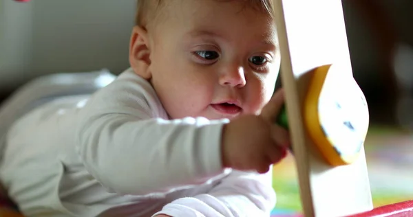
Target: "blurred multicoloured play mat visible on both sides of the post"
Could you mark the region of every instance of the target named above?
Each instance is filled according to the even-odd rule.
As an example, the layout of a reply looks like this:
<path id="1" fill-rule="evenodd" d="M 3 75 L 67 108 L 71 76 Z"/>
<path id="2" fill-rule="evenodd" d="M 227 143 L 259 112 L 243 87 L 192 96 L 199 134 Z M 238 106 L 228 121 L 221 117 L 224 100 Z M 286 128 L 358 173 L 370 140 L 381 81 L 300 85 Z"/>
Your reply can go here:
<path id="1" fill-rule="evenodd" d="M 370 127 L 365 143 L 374 207 L 413 199 L 413 134 Z M 295 161 L 291 155 L 274 166 L 277 217 L 301 216 Z"/>

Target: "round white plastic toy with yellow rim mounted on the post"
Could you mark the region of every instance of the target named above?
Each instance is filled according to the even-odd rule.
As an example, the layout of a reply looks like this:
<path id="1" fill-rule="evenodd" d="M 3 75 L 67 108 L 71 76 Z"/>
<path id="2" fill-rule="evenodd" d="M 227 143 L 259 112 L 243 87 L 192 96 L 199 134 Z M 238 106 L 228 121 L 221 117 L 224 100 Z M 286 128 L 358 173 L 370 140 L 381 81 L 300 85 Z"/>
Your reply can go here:
<path id="1" fill-rule="evenodd" d="M 313 72 L 304 102 L 304 125 L 330 165 L 345 165 L 357 159 L 366 139 L 368 106 L 356 82 L 343 87 L 328 79 L 330 67 L 317 67 Z M 285 106 L 277 124 L 288 128 Z"/>

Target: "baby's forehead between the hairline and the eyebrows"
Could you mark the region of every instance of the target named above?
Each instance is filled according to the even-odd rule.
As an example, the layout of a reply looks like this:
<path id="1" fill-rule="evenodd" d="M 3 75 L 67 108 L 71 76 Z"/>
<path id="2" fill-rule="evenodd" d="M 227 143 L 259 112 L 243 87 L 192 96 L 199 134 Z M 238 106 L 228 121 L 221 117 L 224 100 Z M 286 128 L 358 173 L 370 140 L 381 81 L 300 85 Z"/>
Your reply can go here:
<path id="1" fill-rule="evenodd" d="M 256 8 L 247 8 L 241 1 L 173 0 L 162 3 L 157 9 L 160 15 L 151 21 L 147 30 L 152 32 L 150 35 L 155 40 L 162 38 L 162 41 L 176 38 L 182 43 L 225 42 L 220 45 L 248 41 L 251 46 L 260 43 L 262 47 L 278 47 L 272 16 Z"/>

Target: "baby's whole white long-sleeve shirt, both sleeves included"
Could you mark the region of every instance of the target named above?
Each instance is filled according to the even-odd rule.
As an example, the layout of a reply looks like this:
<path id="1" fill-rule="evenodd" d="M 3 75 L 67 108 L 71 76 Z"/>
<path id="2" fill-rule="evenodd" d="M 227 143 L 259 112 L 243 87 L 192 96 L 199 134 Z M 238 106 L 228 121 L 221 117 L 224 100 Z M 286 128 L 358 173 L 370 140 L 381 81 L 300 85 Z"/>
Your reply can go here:
<path id="1" fill-rule="evenodd" d="M 10 128 L 0 178 L 27 216 L 269 216 L 266 174 L 222 169 L 227 119 L 169 120 L 131 69 Z"/>

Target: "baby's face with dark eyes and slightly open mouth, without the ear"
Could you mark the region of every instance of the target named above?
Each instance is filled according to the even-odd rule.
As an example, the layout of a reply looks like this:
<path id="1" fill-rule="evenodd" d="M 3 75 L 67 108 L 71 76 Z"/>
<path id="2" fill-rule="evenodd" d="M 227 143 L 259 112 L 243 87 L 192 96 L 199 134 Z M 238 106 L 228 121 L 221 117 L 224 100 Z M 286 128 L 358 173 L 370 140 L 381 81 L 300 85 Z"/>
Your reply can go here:
<path id="1" fill-rule="evenodd" d="M 171 118 L 260 113 L 279 71 L 275 26 L 242 1 L 176 1 L 151 32 L 151 84 Z"/>

